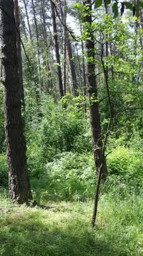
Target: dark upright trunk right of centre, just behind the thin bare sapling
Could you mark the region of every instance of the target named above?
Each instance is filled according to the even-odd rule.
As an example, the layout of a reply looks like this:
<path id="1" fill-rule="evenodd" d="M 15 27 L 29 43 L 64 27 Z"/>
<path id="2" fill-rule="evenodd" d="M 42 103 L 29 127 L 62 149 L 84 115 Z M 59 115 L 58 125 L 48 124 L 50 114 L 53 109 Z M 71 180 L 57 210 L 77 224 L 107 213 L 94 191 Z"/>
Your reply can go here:
<path id="1" fill-rule="evenodd" d="M 91 11 L 91 0 L 86 0 L 85 5 L 89 6 Z M 107 176 L 107 166 L 105 161 L 105 155 L 103 153 L 103 143 L 101 135 L 101 121 L 98 106 L 98 85 L 95 76 L 95 42 L 94 32 L 91 31 L 91 12 L 89 12 L 84 19 L 85 29 L 88 32 L 88 38 L 86 41 L 87 55 L 88 55 L 88 96 L 90 101 L 90 116 L 91 116 L 91 132 L 93 153 L 95 158 L 95 166 L 97 173 L 101 170 L 101 180 L 105 180 Z M 86 23 L 87 22 L 87 23 Z M 86 25 L 88 24 L 88 26 Z M 91 100 L 94 98 L 94 100 Z"/>

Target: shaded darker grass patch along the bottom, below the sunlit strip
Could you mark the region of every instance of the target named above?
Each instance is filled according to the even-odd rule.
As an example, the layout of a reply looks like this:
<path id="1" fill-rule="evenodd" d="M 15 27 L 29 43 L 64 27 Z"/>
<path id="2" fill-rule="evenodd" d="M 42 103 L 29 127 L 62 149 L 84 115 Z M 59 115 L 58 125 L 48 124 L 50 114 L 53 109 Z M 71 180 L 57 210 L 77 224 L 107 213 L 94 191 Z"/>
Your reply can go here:
<path id="1" fill-rule="evenodd" d="M 53 213 L 55 214 L 55 213 Z M 40 215 L 9 217 L 0 229 L 2 256 L 126 256 L 113 241 L 96 236 L 87 224 L 77 220 L 41 221 Z M 78 225 L 77 225 L 78 224 Z M 87 228 L 86 228 L 87 227 Z M 97 231 L 98 232 L 98 231 Z M 125 248 L 124 248 L 125 249 Z M 133 255 L 133 254 L 131 254 Z"/>

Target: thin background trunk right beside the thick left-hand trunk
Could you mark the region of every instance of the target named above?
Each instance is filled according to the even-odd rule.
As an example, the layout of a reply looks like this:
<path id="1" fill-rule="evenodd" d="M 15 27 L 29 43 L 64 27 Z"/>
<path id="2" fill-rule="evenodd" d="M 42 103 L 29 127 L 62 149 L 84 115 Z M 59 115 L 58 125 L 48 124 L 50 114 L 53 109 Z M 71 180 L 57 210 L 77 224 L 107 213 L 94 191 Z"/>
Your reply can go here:
<path id="1" fill-rule="evenodd" d="M 17 55 L 18 55 L 18 79 L 19 79 L 19 96 L 22 102 L 22 106 L 25 109 L 25 95 L 23 88 L 23 73 L 22 73 L 22 48 L 20 41 L 20 19 L 19 19 L 19 9 L 18 0 L 15 0 L 15 24 L 16 24 L 16 45 L 17 45 Z"/>

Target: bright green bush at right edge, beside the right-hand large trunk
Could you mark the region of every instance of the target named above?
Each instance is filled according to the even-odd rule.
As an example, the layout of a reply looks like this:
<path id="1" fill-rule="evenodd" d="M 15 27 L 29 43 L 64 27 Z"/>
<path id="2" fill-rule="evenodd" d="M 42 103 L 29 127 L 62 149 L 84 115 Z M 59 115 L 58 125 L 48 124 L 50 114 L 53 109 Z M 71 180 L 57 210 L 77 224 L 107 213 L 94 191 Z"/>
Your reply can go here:
<path id="1" fill-rule="evenodd" d="M 133 148 L 117 147 L 108 156 L 109 187 L 118 187 L 121 191 L 141 191 L 143 183 L 143 157 Z M 118 175 L 118 177 L 117 177 Z M 136 193 L 135 192 L 135 193 Z"/>

